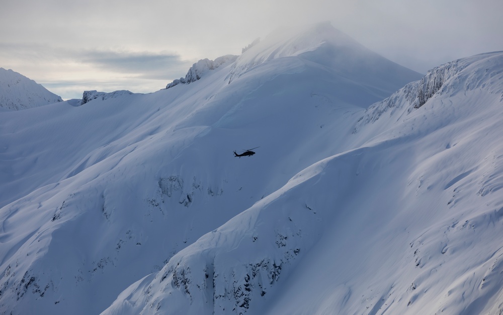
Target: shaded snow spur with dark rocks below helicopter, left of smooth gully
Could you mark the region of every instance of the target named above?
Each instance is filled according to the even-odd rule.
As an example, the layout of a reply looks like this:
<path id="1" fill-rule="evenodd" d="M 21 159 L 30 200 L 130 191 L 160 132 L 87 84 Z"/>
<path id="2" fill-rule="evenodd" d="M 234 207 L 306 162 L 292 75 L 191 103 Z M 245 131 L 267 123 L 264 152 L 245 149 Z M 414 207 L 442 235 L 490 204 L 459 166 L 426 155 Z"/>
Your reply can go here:
<path id="1" fill-rule="evenodd" d="M 105 314 L 244 314 L 260 309 L 319 239 L 361 152 L 322 161 L 125 290 Z M 328 166 L 327 166 L 328 164 Z M 331 187 L 332 194 L 317 198 Z"/>

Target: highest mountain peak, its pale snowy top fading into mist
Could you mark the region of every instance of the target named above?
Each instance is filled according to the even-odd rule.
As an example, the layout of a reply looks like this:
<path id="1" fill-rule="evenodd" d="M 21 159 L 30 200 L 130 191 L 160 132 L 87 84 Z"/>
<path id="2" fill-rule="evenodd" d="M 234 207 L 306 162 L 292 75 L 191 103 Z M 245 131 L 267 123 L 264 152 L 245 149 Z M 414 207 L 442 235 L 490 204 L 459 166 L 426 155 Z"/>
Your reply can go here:
<path id="1" fill-rule="evenodd" d="M 298 67 L 290 71 L 303 71 L 302 65 L 316 64 L 337 73 L 344 84 L 358 82 L 367 86 L 376 99 L 382 99 L 383 92 L 390 95 L 405 83 L 423 76 L 367 49 L 328 22 L 279 28 L 263 41 L 254 43 L 232 64 L 226 78 L 229 83 L 261 64 L 293 57 L 297 58 Z M 362 101 L 361 106 L 368 106 L 368 100 Z"/>

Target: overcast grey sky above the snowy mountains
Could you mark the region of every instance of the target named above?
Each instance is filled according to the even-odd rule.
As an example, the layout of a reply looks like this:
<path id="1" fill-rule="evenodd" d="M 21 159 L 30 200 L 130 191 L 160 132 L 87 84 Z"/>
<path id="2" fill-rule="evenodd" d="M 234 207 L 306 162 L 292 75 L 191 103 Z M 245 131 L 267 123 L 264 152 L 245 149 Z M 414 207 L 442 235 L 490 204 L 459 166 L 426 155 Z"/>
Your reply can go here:
<path id="1" fill-rule="evenodd" d="M 147 93 L 280 26 L 330 21 L 415 71 L 503 50 L 501 0 L 0 0 L 0 67 L 63 99 Z"/>

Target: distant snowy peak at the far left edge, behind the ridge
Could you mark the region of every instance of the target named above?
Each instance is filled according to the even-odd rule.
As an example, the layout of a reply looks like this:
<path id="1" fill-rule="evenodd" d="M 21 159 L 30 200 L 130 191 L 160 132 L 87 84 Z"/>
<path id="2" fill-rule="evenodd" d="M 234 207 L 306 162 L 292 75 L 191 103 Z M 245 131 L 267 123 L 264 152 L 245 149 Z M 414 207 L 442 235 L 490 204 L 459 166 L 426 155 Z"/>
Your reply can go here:
<path id="1" fill-rule="evenodd" d="M 0 68 L 1 108 L 20 110 L 62 101 L 61 97 L 35 81 L 12 70 Z"/>

